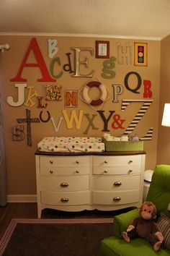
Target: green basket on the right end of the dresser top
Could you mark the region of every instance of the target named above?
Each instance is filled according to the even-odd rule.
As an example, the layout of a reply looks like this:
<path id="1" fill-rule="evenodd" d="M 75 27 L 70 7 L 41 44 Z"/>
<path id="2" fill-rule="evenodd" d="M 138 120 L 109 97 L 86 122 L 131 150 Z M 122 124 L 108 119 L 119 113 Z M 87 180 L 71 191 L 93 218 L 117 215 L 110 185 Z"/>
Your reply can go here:
<path id="1" fill-rule="evenodd" d="M 103 139 L 106 151 L 142 151 L 143 141 L 107 141 Z"/>

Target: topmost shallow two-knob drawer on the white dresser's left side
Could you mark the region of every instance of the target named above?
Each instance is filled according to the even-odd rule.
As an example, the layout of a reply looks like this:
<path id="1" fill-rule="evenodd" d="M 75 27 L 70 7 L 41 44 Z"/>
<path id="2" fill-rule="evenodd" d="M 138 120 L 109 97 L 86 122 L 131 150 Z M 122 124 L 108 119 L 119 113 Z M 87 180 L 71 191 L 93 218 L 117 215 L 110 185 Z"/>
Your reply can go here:
<path id="1" fill-rule="evenodd" d="M 89 156 L 41 156 L 40 165 L 50 165 L 50 166 L 81 166 L 89 165 Z"/>

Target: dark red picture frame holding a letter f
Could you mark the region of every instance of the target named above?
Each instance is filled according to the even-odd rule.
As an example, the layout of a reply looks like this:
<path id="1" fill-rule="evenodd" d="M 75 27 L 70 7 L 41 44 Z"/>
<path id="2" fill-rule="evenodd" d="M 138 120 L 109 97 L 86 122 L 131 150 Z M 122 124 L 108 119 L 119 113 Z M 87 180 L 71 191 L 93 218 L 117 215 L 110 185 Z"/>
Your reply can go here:
<path id="1" fill-rule="evenodd" d="M 109 41 L 96 41 L 96 58 L 109 59 Z"/>

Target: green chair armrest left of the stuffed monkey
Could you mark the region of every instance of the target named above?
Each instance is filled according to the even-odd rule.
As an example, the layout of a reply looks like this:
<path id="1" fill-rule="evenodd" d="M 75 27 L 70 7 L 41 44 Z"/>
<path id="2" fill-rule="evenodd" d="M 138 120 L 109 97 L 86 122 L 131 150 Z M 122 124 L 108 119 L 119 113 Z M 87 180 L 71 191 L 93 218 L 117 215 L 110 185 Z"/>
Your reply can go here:
<path id="1" fill-rule="evenodd" d="M 128 213 L 122 213 L 115 216 L 113 226 L 114 226 L 114 235 L 118 238 L 122 237 L 122 231 L 126 231 L 131 221 L 134 218 L 138 218 L 139 213 L 138 209 L 130 210 Z"/>

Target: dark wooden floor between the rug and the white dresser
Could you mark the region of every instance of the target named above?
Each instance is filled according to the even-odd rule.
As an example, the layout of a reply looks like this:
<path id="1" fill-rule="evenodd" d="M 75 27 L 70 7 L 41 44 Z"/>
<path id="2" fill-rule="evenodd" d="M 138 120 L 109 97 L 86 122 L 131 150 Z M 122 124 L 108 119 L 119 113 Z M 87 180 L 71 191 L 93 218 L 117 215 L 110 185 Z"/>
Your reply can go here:
<path id="1" fill-rule="evenodd" d="M 83 210 L 81 212 L 63 212 L 60 210 L 42 210 L 41 218 L 113 218 L 130 209 L 115 211 Z M 0 206 L 0 239 L 12 218 L 37 218 L 36 202 L 9 202 Z"/>

